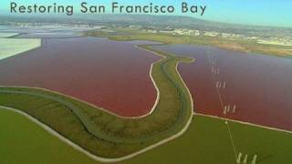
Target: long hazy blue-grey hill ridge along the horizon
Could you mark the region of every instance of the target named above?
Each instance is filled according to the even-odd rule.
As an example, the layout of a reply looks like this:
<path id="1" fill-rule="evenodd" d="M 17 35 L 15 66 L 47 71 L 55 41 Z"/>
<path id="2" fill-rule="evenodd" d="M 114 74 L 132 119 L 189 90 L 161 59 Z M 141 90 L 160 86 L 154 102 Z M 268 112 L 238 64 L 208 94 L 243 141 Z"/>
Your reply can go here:
<path id="1" fill-rule="evenodd" d="M 292 28 L 275 26 L 243 26 L 205 21 L 188 16 L 173 15 L 49 15 L 42 17 L 1 16 L 0 22 L 51 22 L 90 25 L 155 26 L 160 28 L 191 28 L 206 31 L 243 34 L 245 36 L 292 36 Z"/>

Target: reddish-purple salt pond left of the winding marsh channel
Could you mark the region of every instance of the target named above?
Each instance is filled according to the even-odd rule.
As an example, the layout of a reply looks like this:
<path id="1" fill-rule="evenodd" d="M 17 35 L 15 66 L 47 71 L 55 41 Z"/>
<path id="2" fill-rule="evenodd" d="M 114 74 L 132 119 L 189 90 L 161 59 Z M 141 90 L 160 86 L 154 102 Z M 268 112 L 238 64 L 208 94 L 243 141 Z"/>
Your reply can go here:
<path id="1" fill-rule="evenodd" d="M 0 85 L 43 87 L 109 109 L 120 116 L 150 112 L 156 90 L 151 63 L 159 59 L 135 47 L 147 42 L 105 38 L 44 39 L 43 46 L 0 61 Z"/>

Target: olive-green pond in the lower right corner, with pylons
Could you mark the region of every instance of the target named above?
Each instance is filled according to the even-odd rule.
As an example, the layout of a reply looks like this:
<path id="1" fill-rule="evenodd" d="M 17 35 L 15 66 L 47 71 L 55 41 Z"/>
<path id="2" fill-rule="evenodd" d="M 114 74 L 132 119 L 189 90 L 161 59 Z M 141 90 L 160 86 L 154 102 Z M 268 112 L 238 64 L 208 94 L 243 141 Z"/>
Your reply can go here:
<path id="1" fill-rule="evenodd" d="M 258 164 L 289 164 L 292 161 L 292 134 L 229 121 L 238 154 L 247 161 L 257 154 Z M 224 120 L 196 116 L 181 138 L 153 149 L 126 163 L 235 164 L 235 152 Z"/>

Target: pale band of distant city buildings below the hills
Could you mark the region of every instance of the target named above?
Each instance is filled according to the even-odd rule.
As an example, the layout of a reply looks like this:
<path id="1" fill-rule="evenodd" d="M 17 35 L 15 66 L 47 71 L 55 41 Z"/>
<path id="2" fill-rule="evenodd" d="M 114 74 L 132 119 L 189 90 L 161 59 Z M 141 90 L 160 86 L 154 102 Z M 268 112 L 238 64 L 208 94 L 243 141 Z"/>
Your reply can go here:
<path id="1" fill-rule="evenodd" d="M 32 26 L 31 23 L 19 23 L 19 22 L 5 22 L 4 24 L 15 25 L 21 27 Z M 52 26 L 52 24 L 46 23 L 36 23 L 33 26 Z M 55 24 L 54 26 L 72 26 L 72 24 Z M 87 24 L 76 24 L 73 25 L 76 27 L 90 27 L 90 28 L 99 28 L 100 31 L 105 32 L 115 32 L 111 30 L 112 26 L 93 26 Z M 151 34 L 168 34 L 173 36 L 209 36 L 209 37 L 223 37 L 227 39 L 244 39 L 244 40 L 252 40 L 258 44 L 264 45 L 276 45 L 276 46 L 292 46 L 292 36 L 255 36 L 252 35 L 243 35 L 241 33 L 224 33 L 213 30 L 198 30 L 191 28 L 172 28 L 169 26 L 166 27 L 156 27 L 156 26 L 128 26 L 132 29 L 139 29 L 145 33 Z"/>

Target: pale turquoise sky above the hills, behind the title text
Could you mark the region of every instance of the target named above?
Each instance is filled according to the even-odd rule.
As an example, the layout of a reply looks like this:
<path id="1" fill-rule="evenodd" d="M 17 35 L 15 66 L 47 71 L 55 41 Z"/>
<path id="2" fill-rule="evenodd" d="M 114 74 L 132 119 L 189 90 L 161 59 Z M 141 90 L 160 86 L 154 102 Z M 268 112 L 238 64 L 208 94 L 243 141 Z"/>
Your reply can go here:
<path id="1" fill-rule="evenodd" d="M 90 5 L 110 5 L 111 0 L 0 0 L 0 13 L 9 14 L 10 2 L 18 5 L 75 5 L 78 11 L 80 2 Z M 192 15 L 207 20 L 235 24 L 261 26 L 290 26 L 292 27 L 292 0 L 117 0 L 122 5 L 175 5 L 181 9 L 181 3 L 189 5 L 207 5 L 203 16 Z M 174 15 L 180 15 L 180 12 Z M 11 14 L 9 14 L 11 15 Z"/>

